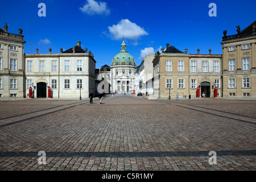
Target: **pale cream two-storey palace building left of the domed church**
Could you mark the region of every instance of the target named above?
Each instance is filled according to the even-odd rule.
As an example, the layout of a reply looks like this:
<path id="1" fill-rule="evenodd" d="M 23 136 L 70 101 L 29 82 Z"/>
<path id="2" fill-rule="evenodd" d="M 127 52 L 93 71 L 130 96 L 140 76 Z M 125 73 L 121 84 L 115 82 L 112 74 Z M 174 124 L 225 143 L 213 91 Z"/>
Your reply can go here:
<path id="1" fill-rule="evenodd" d="M 95 63 L 93 54 L 81 48 L 81 42 L 60 53 L 24 55 L 26 63 L 26 96 L 32 88 L 36 98 L 88 98 L 95 92 Z M 51 96 L 47 89 L 51 88 Z"/>

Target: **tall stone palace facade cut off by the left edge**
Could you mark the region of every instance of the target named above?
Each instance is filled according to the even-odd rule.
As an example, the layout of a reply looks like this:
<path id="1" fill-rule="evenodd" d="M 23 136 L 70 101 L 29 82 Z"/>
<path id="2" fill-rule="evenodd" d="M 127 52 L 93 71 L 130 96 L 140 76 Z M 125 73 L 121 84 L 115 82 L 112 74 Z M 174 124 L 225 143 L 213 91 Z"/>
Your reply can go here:
<path id="1" fill-rule="evenodd" d="M 22 30 L 19 34 L 0 28 L 0 97 L 24 97 L 24 43 Z"/>

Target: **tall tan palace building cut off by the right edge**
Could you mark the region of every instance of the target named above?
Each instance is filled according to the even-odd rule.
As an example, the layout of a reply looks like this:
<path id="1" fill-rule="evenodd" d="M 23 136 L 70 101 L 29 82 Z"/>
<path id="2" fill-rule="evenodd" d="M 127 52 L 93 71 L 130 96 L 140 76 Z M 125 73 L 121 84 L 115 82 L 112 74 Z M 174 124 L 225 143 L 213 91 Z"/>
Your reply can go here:
<path id="1" fill-rule="evenodd" d="M 222 37 L 223 97 L 256 97 L 256 20 Z"/>

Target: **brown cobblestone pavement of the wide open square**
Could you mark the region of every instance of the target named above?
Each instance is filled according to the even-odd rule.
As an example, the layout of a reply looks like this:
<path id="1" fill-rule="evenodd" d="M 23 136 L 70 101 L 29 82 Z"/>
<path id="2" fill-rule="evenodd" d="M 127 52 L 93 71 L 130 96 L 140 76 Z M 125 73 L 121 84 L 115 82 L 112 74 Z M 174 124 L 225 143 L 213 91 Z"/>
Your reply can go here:
<path id="1" fill-rule="evenodd" d="M 251 171 L 255 108 L 218 98 L 0 101 L 0 170 Z"/>

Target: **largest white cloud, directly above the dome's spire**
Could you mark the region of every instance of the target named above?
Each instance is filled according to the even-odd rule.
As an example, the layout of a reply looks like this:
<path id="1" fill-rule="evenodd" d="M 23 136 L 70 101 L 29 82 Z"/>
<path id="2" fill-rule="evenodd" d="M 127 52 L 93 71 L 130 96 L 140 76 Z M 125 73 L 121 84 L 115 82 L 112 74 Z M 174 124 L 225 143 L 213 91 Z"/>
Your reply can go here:
<path id="1" fill-rule="evenodd" d="M 126 39 L 137 40 L 142 35 L 148 35 L 144 28 L 130 22 L 129 19 L 121 19 L 117 24 L 109 26 L 109 32 L 113 39 L 120 39 L 125 36 Z"/>

